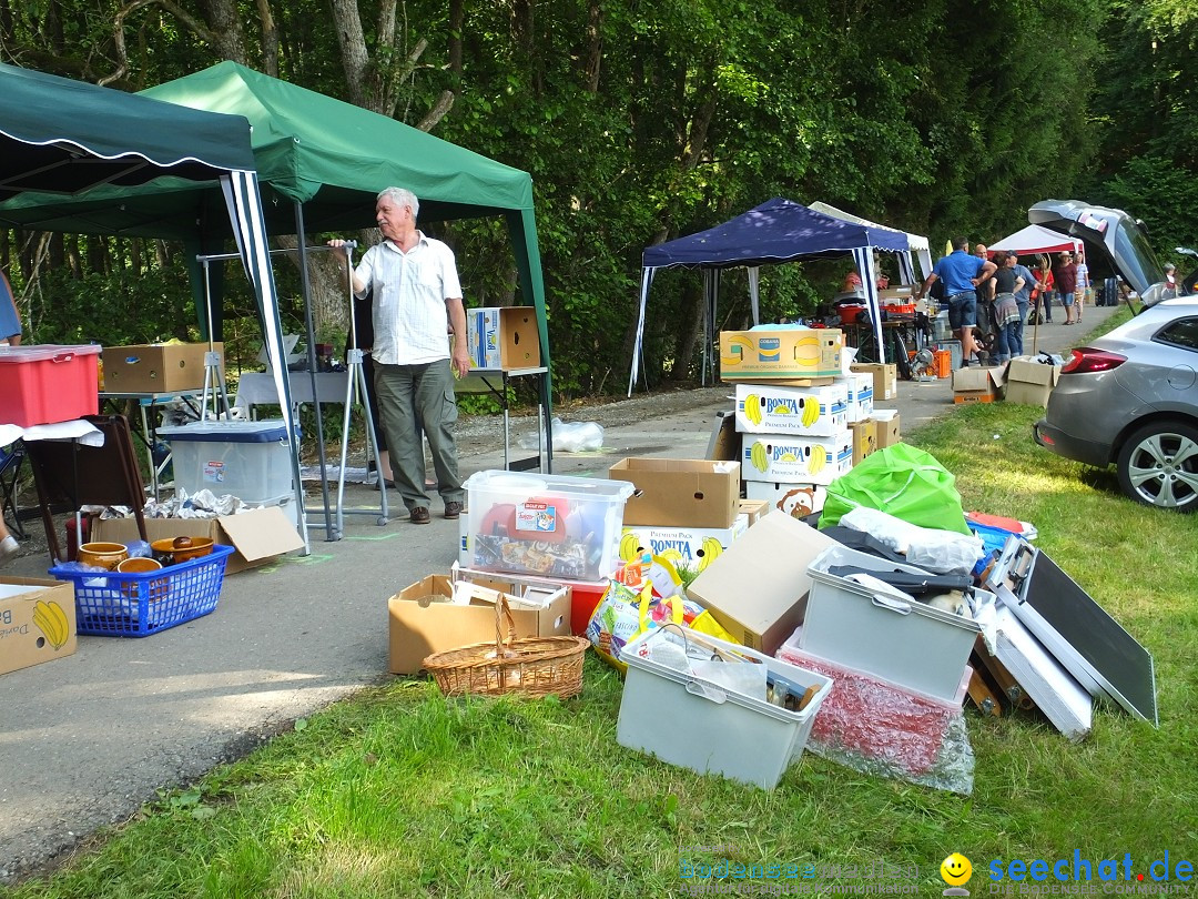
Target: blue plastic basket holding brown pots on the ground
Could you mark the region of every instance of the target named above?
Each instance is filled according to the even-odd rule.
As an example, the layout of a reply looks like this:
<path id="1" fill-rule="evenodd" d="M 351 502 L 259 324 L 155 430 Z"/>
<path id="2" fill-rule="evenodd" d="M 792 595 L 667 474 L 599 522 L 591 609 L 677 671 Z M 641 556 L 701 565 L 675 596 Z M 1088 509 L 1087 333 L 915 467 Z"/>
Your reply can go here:
<path id="1" fill-rule="evenodd" d="M 206 556 L 156 572 L 104 574 L 55 566 L 50 574 L 74 583 L 79 634 L 149 636 L 217 608 L 232 551 L 214 545 Z"/>

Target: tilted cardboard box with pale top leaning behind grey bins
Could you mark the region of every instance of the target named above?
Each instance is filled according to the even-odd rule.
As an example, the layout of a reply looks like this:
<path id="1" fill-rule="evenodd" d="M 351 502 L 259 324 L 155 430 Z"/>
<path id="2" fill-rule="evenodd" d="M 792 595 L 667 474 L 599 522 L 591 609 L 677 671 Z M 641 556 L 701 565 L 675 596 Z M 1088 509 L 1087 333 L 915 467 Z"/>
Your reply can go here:
<path id="1" fill-rule="evenodd" d="M 807 566 L 836 541 L 789 515 L 766 515 L 700 573 L 688 595 L 732 639 L 773 656 L 803 622 Z"/>

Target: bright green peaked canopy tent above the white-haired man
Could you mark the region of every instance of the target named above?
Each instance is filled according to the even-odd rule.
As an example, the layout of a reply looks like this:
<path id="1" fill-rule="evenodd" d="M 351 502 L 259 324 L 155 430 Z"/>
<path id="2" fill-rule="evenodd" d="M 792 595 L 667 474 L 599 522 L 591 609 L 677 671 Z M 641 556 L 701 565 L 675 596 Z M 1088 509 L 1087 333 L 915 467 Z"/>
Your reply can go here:
<path id="1" fill-rule="evenodd" d="M 373 228 L 375 197 L 392 185 L 407 187 L 420 199 L 424 223 L 503 216 L 524 302 L 536 308 L 541 358 L 550 364 L 532 177 L 527 173 L 235 62 L 220 62 L 143 95 L 249 120 L 268 234 Z M 159 181 L 158 188 L 156 195 L 135 197 L 121 188 L 101 188 L 85 198 L 81 212 L 91 216 L 97 228 L 107 229 L 104 233 L 128 236 L 169 236 L 170 229 L 177 231 L 174 236 L 183 236 L 194 233 L 192 223 L 207 222 L 214 215 L 214 198 L 187 183 Z M 50 201 L 24 211 L 30 215 L 30 225 L 44 228 L 60 213 L 53 198 L 42 199 Z M 302 274 L 307 271 L 304 241 L 298 243 Z M 305 283 L 303 289 L 307 291 Z M 310 352 L 310 322 L 308 344 Z M 546 411 L 550 396 L 546 374 L 541 380 Z M 550 418 L 546 415 L 546 421 Z M 546 442 L 551 465 L 552 439 Z M 327 511 L 327 491 L 325 505 Z"/>

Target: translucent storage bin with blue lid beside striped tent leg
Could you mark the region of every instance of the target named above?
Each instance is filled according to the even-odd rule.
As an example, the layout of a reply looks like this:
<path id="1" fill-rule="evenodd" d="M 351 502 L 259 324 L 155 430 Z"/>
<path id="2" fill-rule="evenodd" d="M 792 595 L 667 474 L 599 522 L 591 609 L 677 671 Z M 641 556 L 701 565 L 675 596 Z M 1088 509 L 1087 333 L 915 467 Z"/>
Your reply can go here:
<path id="1" fill-rule="evenodd" d="M 158 429 L 158 436 L 170 444 L 176 487 L 189 494 L 232 494 L 252 505 L 273 505 L 292 491 L 286 434 L 282 420 L 207 421 Z"/>

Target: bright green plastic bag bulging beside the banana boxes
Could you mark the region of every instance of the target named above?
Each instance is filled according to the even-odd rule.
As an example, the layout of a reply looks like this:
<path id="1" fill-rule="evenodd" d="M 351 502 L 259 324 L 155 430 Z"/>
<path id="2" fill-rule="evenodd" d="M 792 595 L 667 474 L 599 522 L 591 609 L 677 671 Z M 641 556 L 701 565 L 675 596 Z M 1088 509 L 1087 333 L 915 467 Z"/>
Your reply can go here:
<path id="1" fill-rule="evenodd" d="M 819 526 L 831 527 L 849 509 L 865 506 L 920 527 L 969 533 L 956 481 L 931 453 L 895 444 L 828 484 Z"/>

